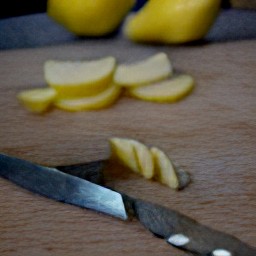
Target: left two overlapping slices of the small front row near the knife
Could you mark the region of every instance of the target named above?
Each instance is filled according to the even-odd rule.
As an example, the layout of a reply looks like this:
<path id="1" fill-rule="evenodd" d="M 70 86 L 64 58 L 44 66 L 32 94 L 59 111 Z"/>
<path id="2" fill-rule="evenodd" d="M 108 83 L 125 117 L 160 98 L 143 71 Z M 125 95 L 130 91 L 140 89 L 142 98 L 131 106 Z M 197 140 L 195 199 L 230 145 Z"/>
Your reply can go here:
<path id="1" fill-rule="evenodd" d="M 149 149 L 141 142 L 133 139 L 110 139 L 112 156 L 122 164 L 145 178 L 151 179 L 154 174 L 153 158 Z"/>

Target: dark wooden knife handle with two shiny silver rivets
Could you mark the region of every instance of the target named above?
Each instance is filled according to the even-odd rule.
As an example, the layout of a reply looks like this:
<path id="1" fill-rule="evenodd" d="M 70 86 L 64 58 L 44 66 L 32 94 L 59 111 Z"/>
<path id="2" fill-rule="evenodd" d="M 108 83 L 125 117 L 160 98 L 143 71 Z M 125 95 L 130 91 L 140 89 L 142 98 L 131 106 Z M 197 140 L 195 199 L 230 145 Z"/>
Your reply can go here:
<path id="1" fill-rule="evenodd" d="M 256 255 L 256 248 L 234 236 L 208 228 L 177 211 L 140 199 L 133 199 L 133 210 L 139 221 L 157 237 L 194 255 Z"/>

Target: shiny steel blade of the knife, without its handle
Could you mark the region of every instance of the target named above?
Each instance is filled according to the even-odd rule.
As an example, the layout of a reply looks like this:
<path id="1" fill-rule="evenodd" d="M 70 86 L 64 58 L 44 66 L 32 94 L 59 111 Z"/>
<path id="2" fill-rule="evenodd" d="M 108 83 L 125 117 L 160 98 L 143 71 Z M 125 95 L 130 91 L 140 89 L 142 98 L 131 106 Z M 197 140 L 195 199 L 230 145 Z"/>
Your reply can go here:
<path id="1" fill-rule="evenodd" d="M 121 194 L 55 168 L 0 154 L 0 176 L 56 201 L 128 218 Z"/>

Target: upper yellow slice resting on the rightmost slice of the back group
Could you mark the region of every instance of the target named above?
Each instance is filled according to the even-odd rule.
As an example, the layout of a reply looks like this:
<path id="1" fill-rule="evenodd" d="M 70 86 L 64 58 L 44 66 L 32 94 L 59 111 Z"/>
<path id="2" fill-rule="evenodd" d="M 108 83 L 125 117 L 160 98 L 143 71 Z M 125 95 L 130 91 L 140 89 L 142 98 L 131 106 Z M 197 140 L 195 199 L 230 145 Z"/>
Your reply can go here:
<path id="1" fill-rule="evenodd" d="M 160 81 L 171 74 L 172 66 L 167 55 L 158 53 L 134 64 L 119 65 L 114 74 L 114 82 L 132 87 Z"/>

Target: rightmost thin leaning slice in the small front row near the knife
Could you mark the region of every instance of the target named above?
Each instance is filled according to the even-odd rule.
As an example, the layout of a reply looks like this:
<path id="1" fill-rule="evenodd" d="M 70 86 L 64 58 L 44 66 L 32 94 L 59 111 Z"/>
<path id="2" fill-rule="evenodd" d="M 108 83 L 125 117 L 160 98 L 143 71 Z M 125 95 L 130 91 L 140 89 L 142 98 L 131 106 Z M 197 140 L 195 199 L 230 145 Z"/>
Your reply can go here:
<path id="1" fill-rule="evenodd" d="M 155 179 L 173 189 L 179 188 L 179 180 L 171 160 L 159 148 L 150 149 L 155 166 Z"/>

